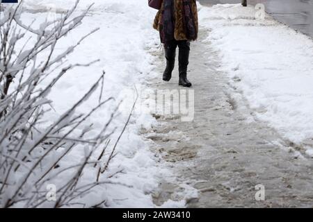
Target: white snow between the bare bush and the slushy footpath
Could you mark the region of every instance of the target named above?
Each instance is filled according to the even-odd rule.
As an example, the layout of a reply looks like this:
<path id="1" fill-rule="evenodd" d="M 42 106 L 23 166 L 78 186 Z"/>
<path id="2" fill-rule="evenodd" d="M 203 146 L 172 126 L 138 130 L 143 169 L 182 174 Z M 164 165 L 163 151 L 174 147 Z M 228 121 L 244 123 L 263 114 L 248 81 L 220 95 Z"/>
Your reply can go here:
<path id="1" fill-rule="evenodd" d="M 54 8 L 56 12 L 63 12 L 70 9 L 74 2 L 74 0 L 58 0 L 53 1 L 54 5 L 51 5 L 49 0 L 25 0 L 24 8 L 28 9 L 29 13 L 25 13 L 23 21 L 29 24 L 33 19 L 43 22 L 47 17 L 47 10 Z M 90 2 L 82 0 L 79 3 L 79 10 L 85 9 Z M 94 132 L 102 130 L 115 106 L 121 99 L 125 99 L 122 92 L 130 90 L 134 93 L 135 84 L 137 87 L 144 88 L 144 83 L 153 74 L 154 57 L 147 49 L 159 44 L 159 35 L 152 29 L 155 13 L 156 10 L 147 7 L 145 0 L 95 1 L 95 5 L 88 17 L 83 20 L 83 24 L 67 36 L 61 45 L 58 45 L 58 51 L 66 49 L 77 42 L 80 37 L 99 27 L 100 30 L 97 33 L 83 41 L 72 56 L 67 58 L 67 63 L 86 63 L 98 58 L 100 62 L 92 67 L 79 67 L 70 71 L 56 85 L 56 89 L 51 92 L 56 111 L 51 112 L 49 118 L 54 119 L 67 110 L 86 93 L 102 71 L 105 71 L 104 97 L 113 96 L 117 100 L 99 110 L 89 120 L 89 123 L 94 123 Z M 95 96 L 88 99 L 77 112 L 86 113 L 90 108 L 95 107 L 98 103 L 98 96 L 99 92 L 96 92 Z M 125 105 L 122 106 L 122 110 L 118 110 L 119 115 L 111 125 L 111 129 L 117 128 L 113 139 L 116 139 L 122 130 L 129 111 L 130 107 L 125 108 Z M 86 203 L 86 207 L 100 203 L 102 200 L 106 200 L 105 205 L 108 207 L 155 207 L 152 202 L 152 191 L 159 186 L 159 178 L 172 175 L 170 171 L 162 167 L 162 164 L 158 163 L 159 157 L 150 151 L 147 142 L 139 135 L 141 128 L 149 130 L 154 121 L 155 119 L 150 114 L 134 113 L 118 145 L 118 155 L 111 163 L 107 175 L 121 171 L 121 169 L 122 173 L 110 179 L 113 185 L 95 187 L 88 196 L 83 198 L 81 202 Z M 75 150 L 70 153 L 66 162 L 72 164 L 81 157 L 83 157 L 83 151 Z M 95 169 L 91 167 L 85 173 L 83 182 L 93 181 L 94 178 Z"/>

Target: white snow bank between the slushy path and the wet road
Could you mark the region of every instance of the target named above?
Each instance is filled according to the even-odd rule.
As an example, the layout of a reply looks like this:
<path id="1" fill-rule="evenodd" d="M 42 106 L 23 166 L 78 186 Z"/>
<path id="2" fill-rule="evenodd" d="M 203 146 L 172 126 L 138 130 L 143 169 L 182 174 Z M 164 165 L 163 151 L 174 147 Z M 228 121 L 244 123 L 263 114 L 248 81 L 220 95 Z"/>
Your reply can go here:
<path id="1" fill-rule="evenodd" d="M 205 41 L 216 47 L 223 60 L 220 69 L 229 74 L 257 119 L 291 142 L 310 144 L 313 41 L 268 15 L 256 19 L 259 15 L 252 6 L 223 4 L 201 8 L 199 16 L 200 25 L 211 30 Z"/>

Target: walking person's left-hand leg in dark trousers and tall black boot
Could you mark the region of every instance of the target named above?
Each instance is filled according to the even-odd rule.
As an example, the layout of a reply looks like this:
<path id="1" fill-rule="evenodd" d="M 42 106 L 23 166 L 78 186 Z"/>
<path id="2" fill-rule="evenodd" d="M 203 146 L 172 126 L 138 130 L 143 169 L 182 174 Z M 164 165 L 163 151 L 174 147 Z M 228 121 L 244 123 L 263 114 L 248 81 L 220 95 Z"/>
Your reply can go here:
<path id="1" fill-rule="evenodd" d="M 164 44 L 164 51 L 166 56 L 166 69 L 163 73 L 163 80 L 168 82 L 172 78 L 172 70 L 175 67 L 177 41 L 172 40 Z"/>

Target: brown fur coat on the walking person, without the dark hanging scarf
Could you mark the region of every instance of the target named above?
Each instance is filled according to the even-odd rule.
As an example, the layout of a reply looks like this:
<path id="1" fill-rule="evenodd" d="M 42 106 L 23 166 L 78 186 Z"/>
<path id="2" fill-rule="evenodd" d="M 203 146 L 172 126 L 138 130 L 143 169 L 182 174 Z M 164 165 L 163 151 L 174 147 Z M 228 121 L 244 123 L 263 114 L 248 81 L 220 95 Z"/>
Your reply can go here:
<path id="1" fill-rule="evenodd" d="M 195 19 L 195 30 L 198 37 L 198 10 L 196 0 L 191 1 L 191 10 L 193 13 L 193 17 Z M 183 12 L 182 12 L 183 2 L 182 0 L 174 0 L 174 8 L 175 8 L 175 30 L 174 30 L 174 38 L 175 40 L 188 40 L 186 37 L 186 33 L 184 30 L 183 24 Z M 159 31 L 159 27 L 161 25 L 162 13 L 164 12 L 164 1 L 162 3 L 161 9 L 157 12 L 157 15 L 154 19 L 153 28 Z M 195 38 L 196 39 L 196 38 Z M 193 39 L 193 40 L 195 40 Z"/>

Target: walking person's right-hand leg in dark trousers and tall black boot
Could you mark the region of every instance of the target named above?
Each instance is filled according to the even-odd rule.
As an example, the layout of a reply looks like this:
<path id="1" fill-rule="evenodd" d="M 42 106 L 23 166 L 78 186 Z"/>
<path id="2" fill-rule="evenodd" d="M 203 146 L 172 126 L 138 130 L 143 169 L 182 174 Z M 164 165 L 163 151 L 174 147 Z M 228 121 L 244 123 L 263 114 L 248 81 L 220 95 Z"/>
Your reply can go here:
<path id="1" fill-rule="evenodd" d="M 191 87 L 191 83 L 187 79 L 187 68 L 189 64 L 189 41 L 178 41 L 179 47 L 179 85 Z"/>

